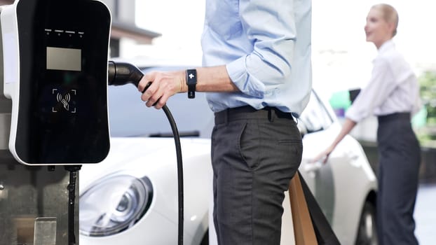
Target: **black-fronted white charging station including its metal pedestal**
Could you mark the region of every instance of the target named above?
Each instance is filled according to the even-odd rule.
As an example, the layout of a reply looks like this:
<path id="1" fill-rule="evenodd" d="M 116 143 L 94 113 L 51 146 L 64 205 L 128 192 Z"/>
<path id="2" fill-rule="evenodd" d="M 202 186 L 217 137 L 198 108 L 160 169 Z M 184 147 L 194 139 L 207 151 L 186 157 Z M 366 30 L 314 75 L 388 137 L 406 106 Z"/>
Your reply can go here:
<path id="1" fill-rule="evenodd" d="M 0 10 L 0 244 L 76 244 L 77 171 L 109 153 L 111 15 L 95 0 Z"/>

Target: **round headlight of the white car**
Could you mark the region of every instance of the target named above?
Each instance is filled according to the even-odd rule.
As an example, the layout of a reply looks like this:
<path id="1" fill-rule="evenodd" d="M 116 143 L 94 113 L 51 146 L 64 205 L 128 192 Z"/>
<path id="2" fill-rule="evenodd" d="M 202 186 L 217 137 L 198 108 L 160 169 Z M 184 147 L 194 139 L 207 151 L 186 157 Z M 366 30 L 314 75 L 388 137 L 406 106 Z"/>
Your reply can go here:
<path id="1" fill-rule="evenodd" d="M 147 177 L 104 177 L 80 196 L 79 230 L 90 237 L 126 230 L 144 216 L 152 198 L 153 187 Z"/>

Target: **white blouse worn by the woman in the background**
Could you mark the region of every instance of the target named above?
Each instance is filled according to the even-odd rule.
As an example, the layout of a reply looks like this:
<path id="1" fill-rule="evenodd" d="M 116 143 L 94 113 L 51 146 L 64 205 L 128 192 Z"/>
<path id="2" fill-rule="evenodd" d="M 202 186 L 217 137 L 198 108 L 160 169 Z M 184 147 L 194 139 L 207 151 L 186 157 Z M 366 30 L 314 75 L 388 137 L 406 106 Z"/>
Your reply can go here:
<path id="1" fill-rule="evenodd" d="M 381 45 L 373 64 L 371 79 L 346 112 L 346 118 L 358 123 L 370 115 L 417 113 L 421 109 L 418 81 L 392 40 Z"/>

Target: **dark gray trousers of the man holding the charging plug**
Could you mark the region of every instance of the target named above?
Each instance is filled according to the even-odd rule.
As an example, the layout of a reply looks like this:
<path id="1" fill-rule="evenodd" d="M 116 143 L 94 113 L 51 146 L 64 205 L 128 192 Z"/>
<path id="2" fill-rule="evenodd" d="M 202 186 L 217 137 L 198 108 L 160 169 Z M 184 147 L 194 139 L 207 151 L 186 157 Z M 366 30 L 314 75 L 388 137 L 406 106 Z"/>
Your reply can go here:
<path id="1" fill-rule="evenodd" d="M 280 244 L 282 202 L 302 151 L 290 113 L 250 106 L 215 113 L 213 216 L 219 245 Z"/>

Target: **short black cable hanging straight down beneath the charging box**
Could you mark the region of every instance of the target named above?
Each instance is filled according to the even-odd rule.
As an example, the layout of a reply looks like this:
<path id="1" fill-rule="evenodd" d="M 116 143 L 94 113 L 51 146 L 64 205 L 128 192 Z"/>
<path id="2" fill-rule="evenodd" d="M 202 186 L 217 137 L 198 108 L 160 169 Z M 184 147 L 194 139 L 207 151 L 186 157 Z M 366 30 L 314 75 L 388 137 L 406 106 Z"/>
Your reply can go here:
<path id="1" fill-rule="evenodd" d="M 74 234 L 74 204 L 76 200 L 76 180 L 77 174 L 82 165 L 67 165 L 65 170 L 69 172 L 68 190 L 68 245 L 76 245 L 76 235 Z"/>

